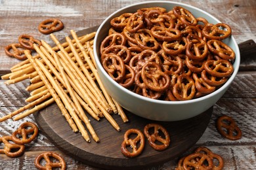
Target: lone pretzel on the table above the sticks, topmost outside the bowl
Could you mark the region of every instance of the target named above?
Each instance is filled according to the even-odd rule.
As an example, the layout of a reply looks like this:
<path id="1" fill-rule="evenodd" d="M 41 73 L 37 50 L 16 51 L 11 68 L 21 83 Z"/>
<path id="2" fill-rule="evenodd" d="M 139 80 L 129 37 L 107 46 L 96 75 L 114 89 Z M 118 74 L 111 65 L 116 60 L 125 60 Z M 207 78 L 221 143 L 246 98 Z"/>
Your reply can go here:
<path id="1" fill-rule="evenodd" d="M 60 31 L 63 28 L 63 22 L 55 18 L 44 20 L 38 25 L 39 32 L 43 34 L 50 34 L 55 31 Z"/>

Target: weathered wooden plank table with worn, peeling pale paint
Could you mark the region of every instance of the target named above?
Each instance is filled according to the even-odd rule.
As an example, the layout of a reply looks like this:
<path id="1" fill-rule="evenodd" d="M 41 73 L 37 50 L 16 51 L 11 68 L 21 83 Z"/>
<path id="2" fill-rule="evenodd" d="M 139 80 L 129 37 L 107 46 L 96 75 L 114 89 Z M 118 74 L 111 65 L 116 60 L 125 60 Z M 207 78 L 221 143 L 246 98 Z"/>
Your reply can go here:
<path id="1" fill-rule="evenodd" d="M 240 44 L 242 62 L 240 72 L 232 86 L 213 107 L 209 126 L 196 145 L 184 153 L 191 153 L 197 146 L 207 146 L 213 152 L 223 156 L 224 169 L 255 169 L 256 167 L 256 54 L 253 53 L 256 42 L 256 1 L 181 1 L 213 14 L 232 27 L 232 34 Z M 54 33 L 57 38 L 70 34 L 70 29 L 79 31 L 99 25 L 109 14 L 121 7 L 137 3 L 131 1 L 0 1 L 0 76 L 10 73 L 10 68 L 19 61 L 5 55 L 7 44 L 17 42 L 21 34 L 29 33 L 37 39 L 51 43 L 49 35 L 37 31 L 37 25 L 50 17 L 60 18 L 64 29 Z M 249 41 L 251 40 L 251 41 Z M 245 42 L 246 41 L 246 42 Z M 243 43 L 244 42 L 244 43 Z M 18 82 L 7 86 L 0 80 L 0 117 L 26 105 L 28 96 L 26 86 L 29 81 Z M 242 129 L 243 137 L 238 141 L 229 141 L 219 135 L 215 128 L 218 116 L 227 114 L 236 120 Z M 0 136 L 11 133 L 22 122 L 34 121 L 32 115 L 14 122 L 6 120 L 0 123 Z M 193 130 L 193 129 L 191 129 Z M 1 145 L 0 145 L 1 148 Z M 37 140 L 26 146 L 26 152 L 19 158 L 0 155 L 0 169 L 35 169 L 35 156 L 43 151 L 56 151 L 64 156 L 68 169 L 96 169 L 85 165 L 61 152 L 49 139 L 39 133 Z M 170 160 L 156 169 L 174 169 L 178 158 Z"/>

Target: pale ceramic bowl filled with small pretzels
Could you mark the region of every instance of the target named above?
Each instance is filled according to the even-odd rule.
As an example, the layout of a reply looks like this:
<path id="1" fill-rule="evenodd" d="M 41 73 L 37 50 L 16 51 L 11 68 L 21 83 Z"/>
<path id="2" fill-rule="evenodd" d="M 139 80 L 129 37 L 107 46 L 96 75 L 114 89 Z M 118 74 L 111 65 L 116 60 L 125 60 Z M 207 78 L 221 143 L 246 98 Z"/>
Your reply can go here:
<path id="1" fill-rule="evenodd" d="M 161 101 L 157 99 L 150 99 L 148 97 L 144 97 L 123 88 L 112 78 L 110 78 L 110 76 L 108 75 L 108 73 L 106 73 L 106 71 L 104 71 L 104 68 L 100 63 L 99 53 L 100 43 L 107 36 L 108 29 L 110 29 L 110 20 L 125 12 L 136 12 L 138 9 L 145 7 L 163 7 L 167 10 L 171 10 L 175 6 L 184 7 L 185 9 L 192 12 L 192 14 L 196 18 L 201 16 L 203 18 L 206 18 L 209 23 L 217 24 L 220 22 L 217 18 L 211 16 L 211 14 L 208 14 L 201 9 L 186 5 L 184 3 L 177 3 L 172 1 L 146 1 L 117 10 L 116 12 L 108 16 L 108 18 L 106 18 L 106 20 L 102 22 L 102 24 L 96 31 L 94 44 L 96 66 L 99 76 L 107 92 L 124 109 L 127 109 L 133 114 L 137 114 L 138 116 L 142 116 L 150 120 L 177 121 L 192 118 L 193 116 L 201 114 L 205 110 L 215 105 L 215 103 L 226 92 L 231 82 L 234 80 L 236 74 L 238 73 L 240 65 L 240 51 L 238 48 L 238 44 L 236 43 L 234 37 L 231 36 L 228 39 L 225 39 L 224 42 L 228 44 L 228 46 L 230 46 L 236 53 L 236 59 L 233 63 L 234 73 L 232 73 L 228 81 L 223 86 L 221 86 L 221 88 L 215 90 L 215 92 L 188 101 Z"/>

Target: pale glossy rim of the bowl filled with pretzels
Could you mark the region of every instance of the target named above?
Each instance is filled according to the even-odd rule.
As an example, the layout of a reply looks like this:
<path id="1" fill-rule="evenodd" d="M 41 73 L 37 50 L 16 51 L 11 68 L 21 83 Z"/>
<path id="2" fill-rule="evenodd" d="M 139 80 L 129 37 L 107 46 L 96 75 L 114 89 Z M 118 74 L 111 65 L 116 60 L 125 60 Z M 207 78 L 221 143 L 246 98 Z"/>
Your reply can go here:
<path id="1" fill-rule="evenodd" d="M 99 33 L 100 33 L 100 30 L 102 29 L 102 27 L 104 27 L 104 25 L 106 24 L 106 22 L 108 20 L 110 20 L 110 18 L 112 18 L 115 14 L 117 14 L 118 12 L 121 12 L 122 10 L 125 10 L 125 9 L 129 9 L 131 7 L 135 7 L 135 6 L 138 6 L 138 5 L 144 5 L 144 4 L 148 4 L 148 3 L 168 3 L 168 4 L 175 4 L 175 5 L 182 5 L 184 7 L 189 7 L 189 8 L 192 8 L 192 9 L 195 9 L 195 10 L 198 10 L 200 12 L 202 12 L 203 14 L 209 16 L 210 18 L 213 18 L 213 20 L 221 23 L 220 20 L 218 20 L 217 18 L 215 18 L 215 16 L 209 14 L 208 12 L 206 12 L 205 10 L 202 10 L 202 9 L 198 9 L 197 7 L 194 7 L 192 5 L 188 5 L 188 4 L 185 4 L 185 3 L 179 3 L 179 2 L 174 2 L 174 1 L 144 1 L 144 2 L 139 2 L 139 3 L 133 3 L 132 5 L 127 5 L 126 7 L 123 7 L 121 9 L 118 9 L 116 10 L 115 12 L 113 12 L 112 14 L 110 14 L 103 22 L 102 24 L 100 24 L 100 26 L 98 27 L 97 31 L 96 31 L 96 34 L 95 34 L 95 40 L 98 39 L 99 37 Z M 101 63 L 100 63 L 100 56 L 97 55 L 97 50 L 96 50 L 96 42 L 93 44 L 93 52 L 95 54 L 95 61 L 96 61 L 96 66 L 97 66 L 97 69 L 100 69 L 102 71 L 102 74 L 104 76 L 106 76 L 106 78 L 108 78 L 108 80 L 110 80 L 110 82 L 112 82 L 112 84 L 115 84 L 116 85 L 116 88 L 118 88 L 119 90 L 125 92 L 125 93 L 128 93 L 129 95 L 132 95 L 133 97 L 137 97 L 139 98 L 140 100 L 143 100 L 143 101 L 147 101 L 147 102 L 150 102 L 150 103 L 159 103 L 159 104 L 162 104 L 162 105 L 183 105 L 183 104 L 188 104 L 188 103 L 196 103 L 198 101 L 203 101 L 207 98 L 211 98 L 213 97 L 215 94 L 225 90 L 226 88 L 228 88 L 228 86 L 230 86 L 231 82 L 234 80 L 235 76 L 237 75 L 238 73 L 238 70 L 239 70 L 239 65 L 240 65 L 240 49 L 238 47 L 238 44 L 236 42 L 236 40 L 234 39 L 234 36 L 231 35 L 229 37 L 231 39 L 232 42 L 234 42 L 234 48 L 236 50 L 234 50 L 234 52 L 236 53 L 236 58 L 235 58 L 235 61 L 233 63 L 233 67 L 234 67 L 234 71 L 232 73 L 232 75 L 228 78 L 228 80 L 223 84 L 223 86 L 221 86 L 220 88 L 218 88 L 217 90 L 215 90 L 214 92 L 212 93 L 209 93 L 207 95 L 204 95 L 202 97 L 198 97 L 196 99 L 190 99 L 190 100 L 186 100 L 186 101 L 164 101 L 164 100 L 159 100 L 159 99 L 151 99 L 149 97 L 145 97 L 143 95 L 139 95 L 135 92 L 131 92 L 130 90 L 128 90 L 127 88 L 124 88 L 123 86 L 121 86 L 120 84 L 118 84 L 115 80 L 113 80 L 109 75 L 108 73 L 106 73 L 106 71 L 104 70 L 104 68 L 102 67 Z M 236 63 L 236 65 L 234 65 Z"/>

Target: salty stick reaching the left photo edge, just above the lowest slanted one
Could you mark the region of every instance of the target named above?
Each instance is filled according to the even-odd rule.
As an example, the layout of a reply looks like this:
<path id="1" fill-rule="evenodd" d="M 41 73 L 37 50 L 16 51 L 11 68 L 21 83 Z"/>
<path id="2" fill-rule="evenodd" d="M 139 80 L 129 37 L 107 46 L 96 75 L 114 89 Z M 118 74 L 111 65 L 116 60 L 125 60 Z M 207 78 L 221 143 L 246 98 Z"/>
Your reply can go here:
<path id="1" fill-rule="evenodd" d="M 48 99 L 49 97 L 51 97 L 51 93 L 47 93 L 47 94 L 43 95 L 43 97 L 33 101 L 32 103 L 29 103 L 28 105 L 25 105 L 24 107 L 21 107 L 20 109 L 15 110 L 11 114 L 7 114 L 6 116 L 3 116 L 2 118 L 0 118 L 0 122 L 3 122 L 9 118 L 12 118 L 13 116 L 19 114 L 20 112 L 23 112 L 24 110 L 30 109 L 30 108 L 34 107 L 35 105 L 42 103 L 43 101 L 45 101 L 45 99 Z"/>

